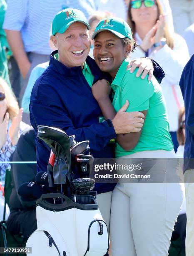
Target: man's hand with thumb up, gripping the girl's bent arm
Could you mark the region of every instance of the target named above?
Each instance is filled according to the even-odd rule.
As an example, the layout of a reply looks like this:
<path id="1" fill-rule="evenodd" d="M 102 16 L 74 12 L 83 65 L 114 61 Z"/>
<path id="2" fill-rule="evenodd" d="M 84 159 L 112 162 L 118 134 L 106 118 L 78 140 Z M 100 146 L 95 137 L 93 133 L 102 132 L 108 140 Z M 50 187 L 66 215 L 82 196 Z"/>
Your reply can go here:
<path id="1" fill-rule="evenodd" d="M 112 119 L 115 133 L 138 133 L 144 123 L 144 114 L 141 112 L 125 112 L 129 106 L 128 100 Z"/>

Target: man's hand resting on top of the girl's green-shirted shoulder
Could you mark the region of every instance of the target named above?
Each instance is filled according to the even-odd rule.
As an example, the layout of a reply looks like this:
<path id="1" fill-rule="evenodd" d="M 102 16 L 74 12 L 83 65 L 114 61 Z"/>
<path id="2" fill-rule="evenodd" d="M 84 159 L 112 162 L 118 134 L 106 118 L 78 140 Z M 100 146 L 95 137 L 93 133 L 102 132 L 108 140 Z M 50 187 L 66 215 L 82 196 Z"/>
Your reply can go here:
<path id="1" fill-rule="evenodd" d="M 154 72 L 152 61 L 148 58 L 134 59 L 127 66 L 127 70 L 131 68 L 130 72 L 133 73 L 137 67 L 139 67 L 139 70 L 137 71 L 136 77 L 142 74 L 141 78 L 144 79 L 149 74 L 148 81 L 150 81 Z"/>

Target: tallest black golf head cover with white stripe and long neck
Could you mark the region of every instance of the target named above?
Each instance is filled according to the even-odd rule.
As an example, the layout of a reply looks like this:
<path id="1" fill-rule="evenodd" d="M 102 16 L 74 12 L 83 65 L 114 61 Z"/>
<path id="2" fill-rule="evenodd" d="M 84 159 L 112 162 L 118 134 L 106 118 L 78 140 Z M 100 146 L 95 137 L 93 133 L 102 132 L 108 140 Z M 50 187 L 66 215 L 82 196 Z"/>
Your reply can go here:
<path id="1" fill-rule="evenodd" d="M 53 171 L 54 184 L 65 184 L 67 178 L 70 182 L 71 151 L 70 138 L 67 133 L 58 128 L 40 125 L 37 136 L 45 141 L 55 154 L 53 170 L 49 168 L 48 171 L 48 175 Z"/>

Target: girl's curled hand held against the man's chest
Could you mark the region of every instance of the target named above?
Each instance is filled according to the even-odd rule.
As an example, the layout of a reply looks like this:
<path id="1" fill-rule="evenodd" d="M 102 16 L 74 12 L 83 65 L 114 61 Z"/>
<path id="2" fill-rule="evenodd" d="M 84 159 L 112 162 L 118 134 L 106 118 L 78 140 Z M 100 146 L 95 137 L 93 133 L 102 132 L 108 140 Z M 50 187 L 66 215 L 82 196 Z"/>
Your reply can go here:
<path id="1" fill-rule="evenodd" d="M 109 97 L 111 86 L 106 79 L 98 80 L 92 85 L 92 94 L 97 101 Z"/>

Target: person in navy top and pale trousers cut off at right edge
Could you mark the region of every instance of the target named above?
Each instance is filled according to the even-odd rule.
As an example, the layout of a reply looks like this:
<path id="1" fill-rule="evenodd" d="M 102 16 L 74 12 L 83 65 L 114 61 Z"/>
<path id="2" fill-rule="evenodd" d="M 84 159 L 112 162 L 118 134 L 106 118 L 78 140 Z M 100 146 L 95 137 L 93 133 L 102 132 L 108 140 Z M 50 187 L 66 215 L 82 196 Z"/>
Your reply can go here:
<path id="1" fill-rule="evenodd" d="M 185 106 L 184 178 L 187 202 L 186 256 L 194 255 L 194 55 L 182 72 L 180 87 Z"/>

